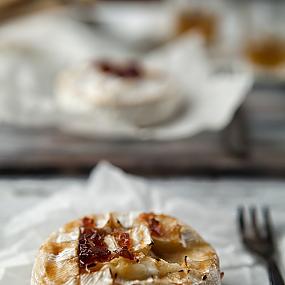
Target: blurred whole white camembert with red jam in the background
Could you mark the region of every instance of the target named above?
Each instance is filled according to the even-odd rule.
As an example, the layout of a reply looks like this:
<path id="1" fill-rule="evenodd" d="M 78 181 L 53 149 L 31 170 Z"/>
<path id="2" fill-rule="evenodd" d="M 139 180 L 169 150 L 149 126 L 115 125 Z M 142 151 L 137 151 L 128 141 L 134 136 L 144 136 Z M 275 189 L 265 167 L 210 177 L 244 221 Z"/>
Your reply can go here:
<path id="1" fill-rule="evenodd" d="M 63 71 L 56 86 L 61 110 L 105 116 L 136 126 L 169 120 L 182 98 L 171 76 L 131 61 L 97 60 Z"/>

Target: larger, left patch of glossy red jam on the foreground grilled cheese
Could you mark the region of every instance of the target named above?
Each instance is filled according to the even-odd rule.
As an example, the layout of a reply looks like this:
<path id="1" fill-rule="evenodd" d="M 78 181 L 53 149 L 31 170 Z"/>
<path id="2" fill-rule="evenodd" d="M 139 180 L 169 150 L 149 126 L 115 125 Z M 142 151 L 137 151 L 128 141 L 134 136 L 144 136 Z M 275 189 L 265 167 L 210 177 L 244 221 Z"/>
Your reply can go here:
<path id="1" fill-rule="evenodd" d="M 107 235 L 112 235 L 119 246 L 115 252 L 111 252 L 104 241 Z M 95 267 L 97 263 L 108 262 L 120 256 L 130 260 L 135 258 L 128 233 L 117 228 L 96 228 L 94 220 L 87 217 L 82 219 L 80 227 L 78 256 L 79 267 L 84 271 Z"/>

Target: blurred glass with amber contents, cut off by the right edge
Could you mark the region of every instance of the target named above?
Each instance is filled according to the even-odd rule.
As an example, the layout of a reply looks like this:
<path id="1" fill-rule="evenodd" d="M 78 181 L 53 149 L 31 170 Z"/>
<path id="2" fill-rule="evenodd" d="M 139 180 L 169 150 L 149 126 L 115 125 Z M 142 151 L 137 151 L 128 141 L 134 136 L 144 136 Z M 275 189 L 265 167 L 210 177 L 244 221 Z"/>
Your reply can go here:
<path id="1" fill-rule="evenodd" d="M 285 66 L 284 1 L 250 1 L 242 15 L 242 52 L 258 69 L 274 70 Z"/>

